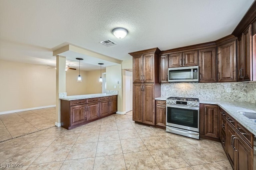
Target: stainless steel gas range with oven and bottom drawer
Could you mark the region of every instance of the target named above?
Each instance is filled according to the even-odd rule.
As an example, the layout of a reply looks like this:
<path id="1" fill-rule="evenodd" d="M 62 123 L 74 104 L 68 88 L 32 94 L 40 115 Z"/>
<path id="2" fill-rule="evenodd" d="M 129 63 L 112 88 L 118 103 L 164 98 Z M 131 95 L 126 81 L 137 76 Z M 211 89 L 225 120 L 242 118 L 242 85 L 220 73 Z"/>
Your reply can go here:
<path id="1" fill-rule="evenodd" d="M 199 99 L 166 99 L 166 132 L 199 139 Z"/>

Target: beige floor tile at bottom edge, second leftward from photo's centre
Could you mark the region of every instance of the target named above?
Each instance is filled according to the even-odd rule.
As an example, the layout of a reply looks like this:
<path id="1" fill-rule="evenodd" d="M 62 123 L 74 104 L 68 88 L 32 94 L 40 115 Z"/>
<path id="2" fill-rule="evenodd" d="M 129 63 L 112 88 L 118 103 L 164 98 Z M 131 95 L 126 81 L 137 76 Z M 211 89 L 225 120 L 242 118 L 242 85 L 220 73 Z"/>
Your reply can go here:
<path id="1" fill-rule="evenodd" d="M 92 170 L 94 158 L 65 160 L 60 170 Z"/>

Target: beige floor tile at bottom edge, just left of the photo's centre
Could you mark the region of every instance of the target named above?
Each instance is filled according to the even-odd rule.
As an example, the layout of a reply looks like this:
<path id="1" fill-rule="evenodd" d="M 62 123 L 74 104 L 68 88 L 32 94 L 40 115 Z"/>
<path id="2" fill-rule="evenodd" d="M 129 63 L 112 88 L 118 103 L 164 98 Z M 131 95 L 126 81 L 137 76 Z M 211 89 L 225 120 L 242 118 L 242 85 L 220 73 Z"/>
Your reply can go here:
<path id="1" fill-rule="evenodd" d="M 126 170 L 123 154 L 99 156 L 94 161 L 95 170 Z"/>

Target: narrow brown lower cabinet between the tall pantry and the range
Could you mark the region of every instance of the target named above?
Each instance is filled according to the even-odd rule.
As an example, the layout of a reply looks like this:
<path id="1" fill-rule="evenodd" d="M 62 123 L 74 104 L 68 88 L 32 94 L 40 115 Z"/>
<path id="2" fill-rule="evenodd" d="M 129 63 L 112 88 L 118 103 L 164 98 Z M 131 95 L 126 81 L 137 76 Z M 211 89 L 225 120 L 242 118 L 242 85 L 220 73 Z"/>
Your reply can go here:
<path id="1" fill-rule="evenodd" d="M 166 127 L 166 101 L 156 100 L 156 125 Z"/>

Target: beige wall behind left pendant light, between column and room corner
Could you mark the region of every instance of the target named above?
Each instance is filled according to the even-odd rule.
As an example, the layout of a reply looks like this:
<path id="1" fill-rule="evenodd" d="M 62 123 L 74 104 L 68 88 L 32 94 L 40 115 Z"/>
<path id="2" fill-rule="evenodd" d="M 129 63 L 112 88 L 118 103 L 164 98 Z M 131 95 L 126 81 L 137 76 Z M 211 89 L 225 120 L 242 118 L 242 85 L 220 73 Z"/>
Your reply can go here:
<path id="1" fill-rule="evenodd" d="M 82 78 L 82 82 L 77 82 L 78 75 L 79 75 L 79 70 L 66 71 L 67 96 L 88 94 L 88 90 L 87 90 L 88 72 L 80 70 L 80 76 Z"/>

